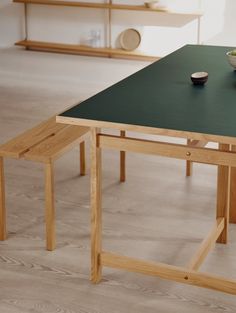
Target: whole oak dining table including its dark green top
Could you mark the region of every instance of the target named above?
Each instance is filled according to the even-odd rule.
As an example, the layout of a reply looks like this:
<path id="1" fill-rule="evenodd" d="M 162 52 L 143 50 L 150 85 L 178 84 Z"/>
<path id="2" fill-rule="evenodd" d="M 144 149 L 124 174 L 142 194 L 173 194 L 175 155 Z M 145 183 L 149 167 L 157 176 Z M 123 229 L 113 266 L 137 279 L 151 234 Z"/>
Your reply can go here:
<path id="1" fill-rule="evenodd" d="M 91 129 L 91 280 L 94 283 L 101 280 L 103 267 L 112 267 L 236 294 L 236 279 L 199 270 L 216 242 L 227 243 L 228 225 L 236 222 L 236 72 L 227 62 L 229 50 L 232 47 L 186 45 L 57 116 L 57 122 Z M 199 71 L 209 74 L 205 85 L 191 82 L 191 74 Z M 114 130 L 122 135 L 114 135 Z M 135 133 L 163 139 L 140 139 Z M 186 143 L 171 143 L 168 137 L 185 138 Z M 218 145 L 211 148 L 206 146 L 208 142 Z M 218 167 L 215 219 L 186 266 L 103 250 L 103 149 L 183 159 L 188 166 L 199 162 Z"/>

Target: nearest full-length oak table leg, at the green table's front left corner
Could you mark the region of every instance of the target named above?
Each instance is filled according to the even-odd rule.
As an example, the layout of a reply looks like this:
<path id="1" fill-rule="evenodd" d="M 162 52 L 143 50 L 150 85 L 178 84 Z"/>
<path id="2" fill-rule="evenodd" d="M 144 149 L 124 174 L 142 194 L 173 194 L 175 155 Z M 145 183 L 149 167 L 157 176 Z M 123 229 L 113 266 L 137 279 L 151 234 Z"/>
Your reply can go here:
<path id="1" fill-rule="evenodd" d="M 99 129 L 91 129 L 91 280 L 98 283 L 102 276 L 100 255 L 102 249 L 102 208 L 101 208 L 101 148 Z"/>

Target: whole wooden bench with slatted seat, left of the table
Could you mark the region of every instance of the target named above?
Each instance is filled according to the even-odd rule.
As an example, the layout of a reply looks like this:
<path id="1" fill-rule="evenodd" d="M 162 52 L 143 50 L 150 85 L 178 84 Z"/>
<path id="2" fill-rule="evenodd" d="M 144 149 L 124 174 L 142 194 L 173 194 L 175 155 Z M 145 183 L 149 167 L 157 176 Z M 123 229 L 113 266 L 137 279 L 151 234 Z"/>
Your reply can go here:
<path id="1" fill-rule="evenodd" d="M 0 240 L 7 237 L 4 158 L 45 164 L 45 221 L 47 250 L 55 248 L 54 161 L 80 144 L 80 174 L 85 175 L 85 136 L 88 127 L 56 123 L 56 118 L 37 125 L 0 146 Z"/>

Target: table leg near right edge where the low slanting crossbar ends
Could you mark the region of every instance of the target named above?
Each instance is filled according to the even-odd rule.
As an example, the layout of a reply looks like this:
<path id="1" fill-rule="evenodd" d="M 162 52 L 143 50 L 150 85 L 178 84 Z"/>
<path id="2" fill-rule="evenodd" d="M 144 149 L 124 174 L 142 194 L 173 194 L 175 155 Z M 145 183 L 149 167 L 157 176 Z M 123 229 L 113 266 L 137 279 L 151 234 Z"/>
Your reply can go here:
<path id="1" fill-rule="evenodd" d="M 219 144 L 219 150 L 229 151 L 229 149 L 229 145 Z M 228 240 L 230 170 L 229 166 L 218 166 L 216 218 L 225 218 L 224 230 L 217 239 L 218 243 L 227 243 Z"/>

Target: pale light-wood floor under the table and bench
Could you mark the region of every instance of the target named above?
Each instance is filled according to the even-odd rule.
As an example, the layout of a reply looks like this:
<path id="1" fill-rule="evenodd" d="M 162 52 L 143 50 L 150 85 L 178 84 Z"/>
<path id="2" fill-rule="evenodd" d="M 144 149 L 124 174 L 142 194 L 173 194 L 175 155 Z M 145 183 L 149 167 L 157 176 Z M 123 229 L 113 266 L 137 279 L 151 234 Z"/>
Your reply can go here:
<path id="1" fill-rule="evenodd" d="M 118 60 L 0 51 L 0 143 L 145 66 Z M 42 166 L 6 161 L 9 238 L 0 242 L 1 313 L 236 312 L 236 298 L 143 275 L 104 269 L 89 282 L 89 175 L 78 150 L 56 163 L 57 249 L 45 251 Z M 103 154 L 104 246 L 128 256 L 185 265 L 214 218 L 216 168 L 129 154 Z M 236 278 L 236 225 L 202 267 Z"/>

